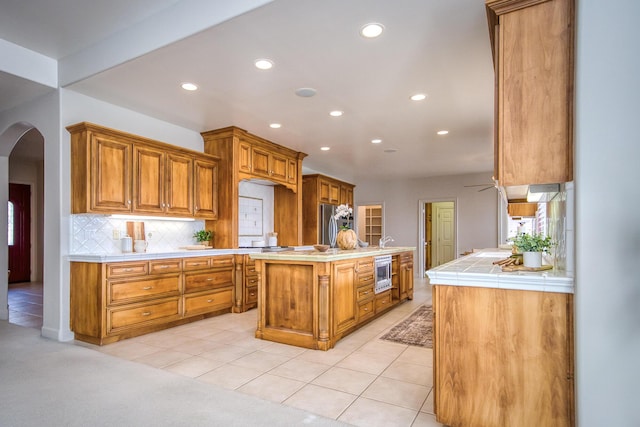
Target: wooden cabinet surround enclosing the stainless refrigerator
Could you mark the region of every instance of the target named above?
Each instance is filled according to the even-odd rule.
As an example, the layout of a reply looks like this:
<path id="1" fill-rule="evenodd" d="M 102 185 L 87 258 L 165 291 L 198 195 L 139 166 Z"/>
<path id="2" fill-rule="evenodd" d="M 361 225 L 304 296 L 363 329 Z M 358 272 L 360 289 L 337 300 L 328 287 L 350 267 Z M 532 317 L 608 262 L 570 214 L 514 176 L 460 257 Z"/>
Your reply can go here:
<path id="1" fill-rule="evenodd" d="M 302 224 L 303 244 L 314 245 L 322 241 L 320 205 L 348 204 L 353 207 L 355 185 L 342 182 L 328 176 L 312 174 L 302 177 Z"/>

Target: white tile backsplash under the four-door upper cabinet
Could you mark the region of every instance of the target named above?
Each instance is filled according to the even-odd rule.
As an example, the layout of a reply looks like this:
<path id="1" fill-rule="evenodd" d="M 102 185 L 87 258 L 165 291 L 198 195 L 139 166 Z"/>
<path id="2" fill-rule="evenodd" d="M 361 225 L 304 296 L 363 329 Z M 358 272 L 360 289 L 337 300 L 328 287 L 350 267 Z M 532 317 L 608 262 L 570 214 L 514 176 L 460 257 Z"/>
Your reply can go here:
<path id="1" fill-rule="evenodd" d="M 127 221 L 133 219 L 113 218 L 108 215 L 71 215 L 71 254 L 120 253 L 120 240 L 113 239 L 113 230 L 124 236 Z M 140 221 L 140 219 L 136 219 Z M 167 252 L 181 246 L 196 243 L 193 233 L 204 228 L 204 221 L 176 221 L 145 219 L 144 230 L 149 246 L 147 252 Z"/>

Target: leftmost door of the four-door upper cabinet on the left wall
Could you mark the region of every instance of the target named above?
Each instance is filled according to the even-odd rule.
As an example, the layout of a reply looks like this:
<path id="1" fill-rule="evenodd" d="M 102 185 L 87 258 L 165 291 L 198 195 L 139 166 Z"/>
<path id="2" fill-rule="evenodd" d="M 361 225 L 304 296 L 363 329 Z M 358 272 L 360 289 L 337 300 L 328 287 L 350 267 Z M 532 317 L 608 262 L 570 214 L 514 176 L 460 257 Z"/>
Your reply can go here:
<path id="1" fill-rule="evenodd" d="M 131 211 L 131 151 L 128 142 L 93 135 L 91 141 L 91 210 Z"/>

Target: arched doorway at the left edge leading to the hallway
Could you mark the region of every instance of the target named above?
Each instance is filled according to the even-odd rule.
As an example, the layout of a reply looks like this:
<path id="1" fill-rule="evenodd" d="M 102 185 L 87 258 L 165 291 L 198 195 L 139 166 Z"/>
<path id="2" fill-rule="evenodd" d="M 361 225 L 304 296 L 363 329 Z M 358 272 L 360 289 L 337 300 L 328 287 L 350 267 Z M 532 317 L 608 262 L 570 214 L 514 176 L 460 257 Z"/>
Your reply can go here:
<path id="1" fill-rule="evenodd" d="M 0 319 L 8 319 L 12 323 L 22 324 L 39 328 L 42 326 L 42 293 L 43 293 L 43 230 L 44 230 L 44 137 L 29 123 L 16 123 L 2 134 L 0 134 L 0 163 L 4 163 L 3 172 L 0 177 L 0 202 L 2 203 L 2 213 L 0 221 L 2 224 L 13 222 L 14 233 L 1 233 L 0 237 L 0 266 L 3 269 L 11 263 L 14 268 L 18 267 L 16 262 L 25 261 L 28 258 L 27 266 L 20 268 L 28 271 L 22 272 L 16 280 L 10 280 L 9 274 L 2 274 L 0 278 Z M 10 193 L 9 186 L 13 192 Z M 14 199 L 15 189 L 27 192 L 23 194 L 20 202 L 20 209 L 28 205 L 28 211 L 21 211 L 21 216 L 17 215 L 18 203 Z M 26 200 L 25 200 L 26 198 Z M 9 206 L 13 206 L 13 213 L 16 215 L 9 218 Z M 18 222 L 15 218 L 20 218 Z M 4 226 L 3 226 L 4 227 Z M 18 227 L 21 227 L 18 232 Z M 6 230 L 6 228 L 5 228 Z M 22 245 L 21 251 L 28 251 L 28 257 L 24 252 L 16 251 L 17 240 Z M 12 245 L 12 247 L 10 247 Z M 5 249 L 6 248 L 6 249 Z M 13 257 L 10 261 L 9 257 Z M 18 259 L 16 259 L 18 257 Z M 0 270 L 2 271 L 2 270 Z M 19 280 L 17 280 L 19 279 Z M 18 299 L 9 298 L 9 282 L 18 282 L 20 289 Z M 12 295 L 14 289 L 12 290 Z M 12 316 L 13 314 L 13 316 Z M 12 319 L 13 317 L 13 319 Z M 17 322 L 14 322 L 17 321 Z"/>

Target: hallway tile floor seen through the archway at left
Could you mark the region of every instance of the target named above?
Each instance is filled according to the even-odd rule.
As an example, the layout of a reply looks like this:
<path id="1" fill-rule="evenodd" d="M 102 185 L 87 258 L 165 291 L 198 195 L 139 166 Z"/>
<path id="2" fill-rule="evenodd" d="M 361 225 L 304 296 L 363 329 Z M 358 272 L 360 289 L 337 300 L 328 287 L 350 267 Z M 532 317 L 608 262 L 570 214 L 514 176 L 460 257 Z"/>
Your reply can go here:
<path id="1" fill-rule="evenodd" d="M 42 283 L 11 283 L 8 287 L 9 323 L 42 328 Z"/>

